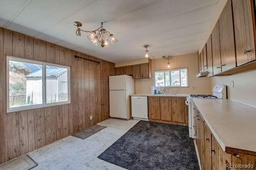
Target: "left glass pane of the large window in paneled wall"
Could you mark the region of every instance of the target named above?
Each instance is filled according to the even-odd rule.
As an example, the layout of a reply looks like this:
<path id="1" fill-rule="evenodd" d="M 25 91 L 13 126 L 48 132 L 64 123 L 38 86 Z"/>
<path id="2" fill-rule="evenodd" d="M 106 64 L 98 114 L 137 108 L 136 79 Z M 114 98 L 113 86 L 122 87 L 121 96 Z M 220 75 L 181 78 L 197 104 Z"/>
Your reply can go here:
<path id="1" fill-rule="evenodd" d="M 43 104 L 42 64 L 9 61 L 9 107 Z"/>

